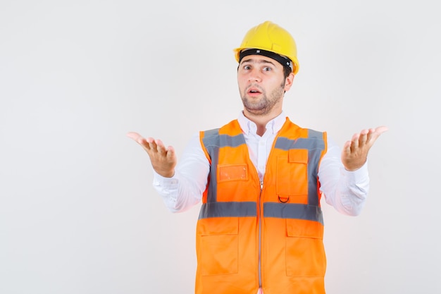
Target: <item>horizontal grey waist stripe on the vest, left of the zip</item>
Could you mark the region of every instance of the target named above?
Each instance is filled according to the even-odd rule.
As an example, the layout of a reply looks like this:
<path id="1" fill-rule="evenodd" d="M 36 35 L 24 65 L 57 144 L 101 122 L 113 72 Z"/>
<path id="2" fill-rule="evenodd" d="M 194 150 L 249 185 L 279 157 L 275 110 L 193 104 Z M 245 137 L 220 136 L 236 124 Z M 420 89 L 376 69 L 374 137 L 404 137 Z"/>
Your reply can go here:
<path id="1" fill-rule="evenodd" d="M 202 204 L 199 219 L 228 216 L 257 216 L 256 202 L 207 202 Z"/>

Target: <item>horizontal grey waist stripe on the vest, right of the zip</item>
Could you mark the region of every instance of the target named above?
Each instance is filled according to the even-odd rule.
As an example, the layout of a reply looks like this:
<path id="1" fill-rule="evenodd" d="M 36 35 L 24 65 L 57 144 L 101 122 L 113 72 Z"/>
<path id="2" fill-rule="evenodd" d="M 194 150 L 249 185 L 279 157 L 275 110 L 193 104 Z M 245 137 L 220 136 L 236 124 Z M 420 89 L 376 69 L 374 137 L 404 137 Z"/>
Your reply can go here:
<path id="1" fill-rule="evenodd" d="M 304 219 L 323 224 L 321 208 L 305 204 L 265 202 L 263 203 L 263 217 Z"/>

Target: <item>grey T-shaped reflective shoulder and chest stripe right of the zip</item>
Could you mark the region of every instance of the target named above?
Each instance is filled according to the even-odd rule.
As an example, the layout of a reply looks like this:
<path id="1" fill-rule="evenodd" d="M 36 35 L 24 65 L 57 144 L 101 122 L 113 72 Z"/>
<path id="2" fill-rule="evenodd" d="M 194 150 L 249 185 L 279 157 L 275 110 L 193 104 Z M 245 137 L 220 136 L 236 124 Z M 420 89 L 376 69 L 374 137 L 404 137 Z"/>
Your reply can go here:
<path id="1" fill-rule="evenodd" d="M 321 152 L 325 149 L 323 133 L 316 130 L 308 130 L 307 138 L 301 137 L 295 140 L 288 139 L 287 137 L 278 137 L 274 147 L 285 151 L 290 149 L 308 150 L 308 204 L 318 207 L 317 167 L 318 161 L 321 158 Z"/>

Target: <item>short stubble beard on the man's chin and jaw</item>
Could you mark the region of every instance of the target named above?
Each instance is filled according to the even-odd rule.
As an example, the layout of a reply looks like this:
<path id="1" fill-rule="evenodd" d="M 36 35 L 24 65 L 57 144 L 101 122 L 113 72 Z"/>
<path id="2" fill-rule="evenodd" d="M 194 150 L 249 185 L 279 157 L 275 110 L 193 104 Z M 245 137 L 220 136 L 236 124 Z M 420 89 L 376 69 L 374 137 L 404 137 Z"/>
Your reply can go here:
<path id="1" fill-rule="evenodd" d="M 246 109 L 249 113 L 254 115 L 263 116 L 268 114 L 275 104 L 280 102 L 283 95 L 285 94 L 285 82 L 282 82 L 280 87 L 275 88 L 269 96 L 266 95 L 266 92 L 262 90 L 262 97 L 258 102 L 254 102 L 253 99 L 249 99 L 247 97 L 247 90 L 245 89 L 242 93 L 242 104 L 244 104 L 244 109 Z"/>

